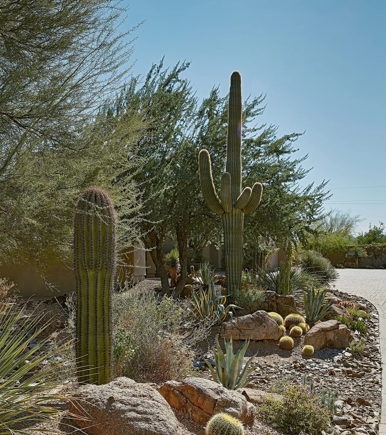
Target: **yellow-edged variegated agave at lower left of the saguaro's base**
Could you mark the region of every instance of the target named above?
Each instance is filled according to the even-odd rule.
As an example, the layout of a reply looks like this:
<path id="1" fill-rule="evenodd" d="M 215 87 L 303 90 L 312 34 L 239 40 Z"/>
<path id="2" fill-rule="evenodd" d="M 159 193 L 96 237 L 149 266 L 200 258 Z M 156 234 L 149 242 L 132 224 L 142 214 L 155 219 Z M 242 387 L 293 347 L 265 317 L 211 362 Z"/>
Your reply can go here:
<path id="1" fill-rule="evenodd" d="M 225 307 L 226 296 L 215 296 L 214 299 L 211 289 L 206 291 L 200 287 L 199 293 L 193 293 L 191 305 L 195 318 L 209 320 L 213 325 L 218 325 L 226 320 L 227 317 L 233 317 L 231 308 L 239 308 L 237 305 L 229 304 Z"/>

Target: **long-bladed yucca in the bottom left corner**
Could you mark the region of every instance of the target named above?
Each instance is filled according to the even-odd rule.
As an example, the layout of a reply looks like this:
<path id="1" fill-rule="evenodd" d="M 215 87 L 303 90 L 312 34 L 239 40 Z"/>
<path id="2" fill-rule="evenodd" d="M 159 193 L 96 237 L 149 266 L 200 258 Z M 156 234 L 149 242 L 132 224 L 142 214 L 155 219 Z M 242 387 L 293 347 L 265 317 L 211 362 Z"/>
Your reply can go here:
<path id="1" fill-rule="evenodd" d="M 0 312 L 0 433 L 27 434 L 26 429 L 16 429 L 15 424 L 30 421 L 52 422 L 62 418 L 60 406 L 50 402 L 68 402 L 69 396 L 52 392 L 63 387 L 68 379 L 67 365 L 70 361 L 54 360 L 58 353 L 68 351 L 70 342 L 62 342 L 54 350 L 42 351 L 49 341 L 47 337 L 28 348 L 50 325 L 44 323 L 46 313 L 26 313 L 26 305 L 11 299 L 3 301 Z M 42 325 L 43 323 L 43 325 Z M 34 354 L 38 352 L 39 356 Z M 47 362 L 46 362 L 47 361 Z M 37 371 L 35 368 L 39 368 Z M 75 375 L 75 371 L 74 374 Z M 74 416 L 67 413 L 67 417 Z M 78 418 L 78 417 L 77 417 Z"/>

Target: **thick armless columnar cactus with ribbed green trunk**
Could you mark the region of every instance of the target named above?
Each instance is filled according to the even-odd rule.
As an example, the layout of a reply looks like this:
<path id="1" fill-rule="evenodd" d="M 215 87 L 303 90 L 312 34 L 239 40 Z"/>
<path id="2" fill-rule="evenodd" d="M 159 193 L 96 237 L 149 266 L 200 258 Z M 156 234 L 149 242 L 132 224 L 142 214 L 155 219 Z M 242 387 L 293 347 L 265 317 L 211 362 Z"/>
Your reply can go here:
<path id="1" fill-rule="evenodd" d="M 77 285 L 77 365 L 80 381 L 107 384 L 112 376 L 111 293 L 117 268 L 116 216 L 108 194 L 88 188 L 74 218 Z"/>

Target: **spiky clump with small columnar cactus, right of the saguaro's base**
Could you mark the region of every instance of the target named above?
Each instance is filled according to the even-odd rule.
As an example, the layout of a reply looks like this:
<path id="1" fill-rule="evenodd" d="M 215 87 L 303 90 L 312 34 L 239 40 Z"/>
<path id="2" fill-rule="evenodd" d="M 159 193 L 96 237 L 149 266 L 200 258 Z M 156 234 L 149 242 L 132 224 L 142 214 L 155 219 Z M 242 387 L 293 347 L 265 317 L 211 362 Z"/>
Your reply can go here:
<path id="1" fill-rule="evenodd" d="M 277 294 L 293 294 L 297 301 L 302 299 L 302 291 L 306 286 L 302 271 L 292 268 L 289 264 L 280 264 L 280 267 L 273 271 L 259 269 L 256 284 Z"/>

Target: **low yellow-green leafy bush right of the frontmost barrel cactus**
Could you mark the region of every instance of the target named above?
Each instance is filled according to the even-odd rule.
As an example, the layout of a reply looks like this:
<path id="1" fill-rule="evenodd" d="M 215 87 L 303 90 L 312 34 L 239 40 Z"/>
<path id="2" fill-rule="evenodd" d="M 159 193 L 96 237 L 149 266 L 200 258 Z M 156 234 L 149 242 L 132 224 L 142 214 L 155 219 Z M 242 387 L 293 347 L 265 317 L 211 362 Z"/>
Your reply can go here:
<path id="1" fill-rule="evenodd" d="M 290 435 L 299 432 L 320 435 L 327 430 L 329 414 L 308 388 L 285 384 L 280 393 L 283 400 L 275 400 L 273 396 L 263 399 L 257 408 L 259 418 Z"/>

